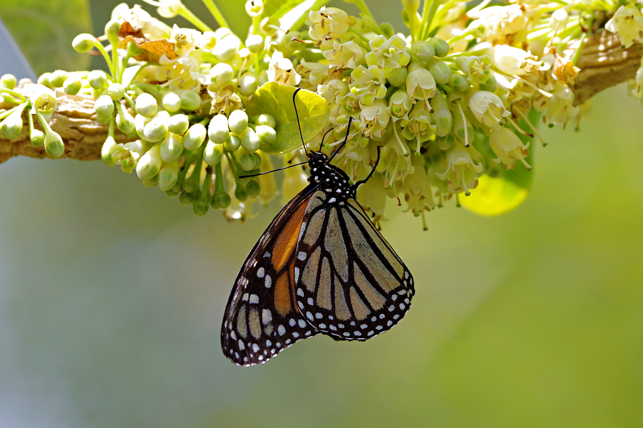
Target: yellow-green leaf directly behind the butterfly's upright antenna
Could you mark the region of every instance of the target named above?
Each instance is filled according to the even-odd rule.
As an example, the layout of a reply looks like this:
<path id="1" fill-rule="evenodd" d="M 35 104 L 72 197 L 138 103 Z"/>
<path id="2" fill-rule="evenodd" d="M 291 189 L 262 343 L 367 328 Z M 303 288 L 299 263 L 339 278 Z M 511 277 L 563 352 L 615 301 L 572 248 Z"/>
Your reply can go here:
<path id="1" fill-rule="evenodd" d="M 269 81 L 257 89 L 248 102 L 248 116 L 271 114 L 275 117 L 277 137 L 271 144 L 261 145 L 261 150 L 270 155 L 286 153 L 302 144 L 293 107 L 294 90 L 292 86 Z M 309 141 L 326 125 L 331 109 L 320 95 L 305 89 L 297 92 L 296 103 L 303 141 Z"/>

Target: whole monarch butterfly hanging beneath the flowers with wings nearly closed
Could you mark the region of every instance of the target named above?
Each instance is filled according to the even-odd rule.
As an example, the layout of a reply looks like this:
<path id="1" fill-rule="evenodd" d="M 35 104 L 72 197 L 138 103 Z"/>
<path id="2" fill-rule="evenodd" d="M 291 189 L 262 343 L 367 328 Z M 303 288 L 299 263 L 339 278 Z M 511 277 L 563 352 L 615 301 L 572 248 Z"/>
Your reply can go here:
<path id="1" fill-rule="evenodd" d="M 296 104 L 295 113 L 299 123 Z M 411 273 L 355 199 L 379 147 L 372 171 L 355 184 L 331 164 L 351 120 L 330 158 L 304 145 L 310 184 L 277 214 L 237 275 L 221 328 L 221 348 L 235 364 L 265 363 L 320 333 L 364 341 L 391 329 L 411 305 Z"/>

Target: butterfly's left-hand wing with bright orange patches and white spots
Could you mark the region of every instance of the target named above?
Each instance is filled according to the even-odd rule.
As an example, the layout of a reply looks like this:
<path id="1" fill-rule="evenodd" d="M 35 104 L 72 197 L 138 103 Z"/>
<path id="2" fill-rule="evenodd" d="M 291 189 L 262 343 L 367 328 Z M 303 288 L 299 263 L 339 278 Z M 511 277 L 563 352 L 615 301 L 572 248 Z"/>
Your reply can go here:
<path id="1" fill-rule="evenodd" d="M 244 262 L 221 327 L 224 355 L 240 366 L 266 363 L 296 341 L 319 333 L 294 302 L 294 252 L 309 185 L 277 214 Z"/>

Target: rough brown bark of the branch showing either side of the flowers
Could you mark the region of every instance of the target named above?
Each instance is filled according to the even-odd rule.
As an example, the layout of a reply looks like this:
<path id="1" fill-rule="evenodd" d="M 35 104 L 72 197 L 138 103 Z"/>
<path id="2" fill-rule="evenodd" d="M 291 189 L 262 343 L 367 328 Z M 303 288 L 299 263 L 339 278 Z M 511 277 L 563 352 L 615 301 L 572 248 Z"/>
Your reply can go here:
<path id="1" fill-rule="evenodd" d="M 582 104 L 604 89 L 633 79 L 640 67 L 642 56 L 642 44 L 637 43 L 628 49 L 622 49 L 619 38 L 608 31 L 588 36 L 577 63 L 581 71 L 574 87 L 575 104 Z M 16 90 L 28 94 L 32 84 L 32 81 L 23 79 Z M 64 92 L 58 92 L 57 95 L 59 110 L 51 117 L 50 124 L 65 142 L 63 157 L 78 160 L 100 159 L 100 149 L 107 138 L 107 126 L 96 121 L 93 99 L 71 96 Z M 0 103 L 0 112 L 8 107 L 10 106 L 6 103 Z M 48 157 L 44 146 L 34 146 L 29 140 L 26 114 L 24 123 L 23 132 L 12 141 L 6 140 L 0 133 L 0 162 L 18 155 Z M 115 139 L 116 142 L 132 141 L 118 130 Z"/>

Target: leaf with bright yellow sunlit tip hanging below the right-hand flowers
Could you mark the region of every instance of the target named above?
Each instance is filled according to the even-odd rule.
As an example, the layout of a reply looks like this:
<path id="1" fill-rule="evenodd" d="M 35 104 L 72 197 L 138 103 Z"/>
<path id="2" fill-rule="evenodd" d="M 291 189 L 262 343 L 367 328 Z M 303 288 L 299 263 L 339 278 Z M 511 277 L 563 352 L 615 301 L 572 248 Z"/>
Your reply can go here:
<path id="1" fill-rule="evenodd" d="M 538 124 L 541 113 L 532 110 L 529 113 L 529 120 Z M 523 119 L 518 121 L 518 126 L 526 132 L 531 132 L 529 126 Z M 530 142 L 529 156 L 525 158 L 530 166 L 534 166 L 534 139 L 512 131 L 518 135 L 521 141 Z M 476 146 L 481 152 L 486 151 L 486 158 L 495 158 L 489 147 L 489 139 L 481 146 Z M 489 153 L 491 152 L 491 153 Z M 471 190 L 471 195 L 461 196 L 458 200 L 460 205 L 481 216 L 502 216 L 520 206 L 527 198 L 534 179 L 533 169 L 527 171 L 520 162 L 516 162 L 514 169 L 505 170 L 502 166 L 487 166 L 487 171 L 478 179 L 478 187 Z"/>

